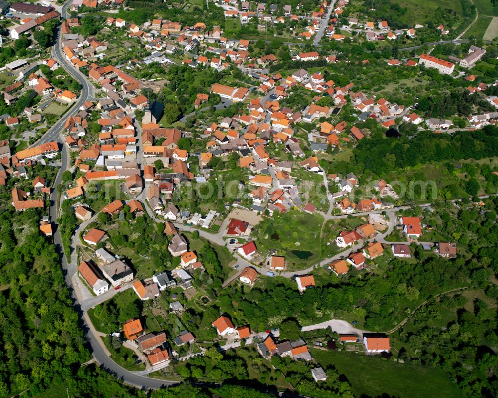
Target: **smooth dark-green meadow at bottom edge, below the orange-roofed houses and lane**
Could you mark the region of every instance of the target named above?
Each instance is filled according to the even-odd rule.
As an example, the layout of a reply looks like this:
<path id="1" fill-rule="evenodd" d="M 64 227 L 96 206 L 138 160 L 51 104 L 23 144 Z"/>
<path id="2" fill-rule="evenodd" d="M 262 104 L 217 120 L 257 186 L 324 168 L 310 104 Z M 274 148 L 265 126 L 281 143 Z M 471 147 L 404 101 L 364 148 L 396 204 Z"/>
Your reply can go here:
<path id="1" fill-rule="evenodd" d="M 333 365 L 345 375 L 356 397 L 461 397 L 442 370 L 385 361 L 349 352 L 310 349 L 323 367 Z"/>

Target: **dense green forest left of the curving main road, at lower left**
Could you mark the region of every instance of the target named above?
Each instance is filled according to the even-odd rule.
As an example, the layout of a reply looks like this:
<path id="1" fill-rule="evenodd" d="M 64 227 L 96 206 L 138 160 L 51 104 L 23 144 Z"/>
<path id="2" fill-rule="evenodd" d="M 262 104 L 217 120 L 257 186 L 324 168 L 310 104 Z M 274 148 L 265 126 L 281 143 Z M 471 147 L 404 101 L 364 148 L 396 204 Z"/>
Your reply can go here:
<path id="1" fill-rule="evenodd" d="M 0 229 L 0 396 L 35 395 L 73 377 L 90 359 L 55 247 L 39 214 L 2 212 Z"/>

